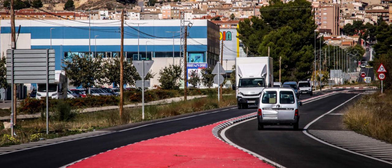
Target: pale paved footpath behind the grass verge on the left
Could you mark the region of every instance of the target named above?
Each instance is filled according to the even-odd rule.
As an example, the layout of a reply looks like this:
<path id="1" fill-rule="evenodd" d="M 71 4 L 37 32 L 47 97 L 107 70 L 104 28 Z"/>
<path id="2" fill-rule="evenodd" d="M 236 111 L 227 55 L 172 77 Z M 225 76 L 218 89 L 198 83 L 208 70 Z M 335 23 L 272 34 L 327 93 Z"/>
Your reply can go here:
<path id="1" fill-rule="evenodd" d="M 202 97 L 207 97 L 207 95 L 197 95 L 197 96 L 187 96 L 188 100 L 191 99 L 197 99 L 197 98 L 202 98 Z M 156 100 L 156 101 L 151 101 L 145 103 L 146 106 L 149 105 L 156 105 L 156 104 L 168 104 L 172 102 L 179 102 L 182 101 L 184 97 L 173 97 L 169 99 L 163 99 L 163 100 Z M 142 103 L 135 103 L 135 104 L 127 104 L 124 105 L 124 108 L 132 108 L 132 107 L 139 107 L 142 106 Z M 118 109 L 118 106 L 104 106 L 104 107 L 92 107 L 92 108 L 85 108 L 80 110 L 80 113 L 87 113 L 87 112 L 93 112 L 93 111 L 102 111 L 102 110 L 113 110 L 113 109 Z M 35 114 L 26 114 L 26 115 L 17 115 L 17 119 L 32 119 L 32 118 L 39 118 L 41 117 L 40 113 L 35 113 Z M 5 116 L 5 117 L 0 117 L 0 120 L 8 120 L 10 119 L 10 116 Z"/>

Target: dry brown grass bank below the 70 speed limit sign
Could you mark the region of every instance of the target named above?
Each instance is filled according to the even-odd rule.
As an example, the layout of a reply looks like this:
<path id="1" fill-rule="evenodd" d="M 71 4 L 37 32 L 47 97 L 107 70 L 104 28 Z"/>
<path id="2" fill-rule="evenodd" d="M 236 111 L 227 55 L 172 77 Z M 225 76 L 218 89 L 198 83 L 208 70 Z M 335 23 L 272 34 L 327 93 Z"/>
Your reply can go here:
<path id="1" fill-rule="evenodd" d="M 392 91 L 364 96 L 343 121 L 351 130 L 392 143 Z"/>

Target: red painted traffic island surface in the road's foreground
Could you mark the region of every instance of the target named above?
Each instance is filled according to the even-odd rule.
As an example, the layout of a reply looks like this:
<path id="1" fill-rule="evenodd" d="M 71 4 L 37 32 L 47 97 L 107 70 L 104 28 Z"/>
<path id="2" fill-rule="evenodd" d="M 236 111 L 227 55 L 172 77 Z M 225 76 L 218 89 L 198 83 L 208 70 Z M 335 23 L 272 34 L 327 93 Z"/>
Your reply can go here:
<path id="1" fill-rule="evenodd" d="M 214 137 L 211 130 L 221 123 L 129 144 L 69 167 L 272 167 Z"/>

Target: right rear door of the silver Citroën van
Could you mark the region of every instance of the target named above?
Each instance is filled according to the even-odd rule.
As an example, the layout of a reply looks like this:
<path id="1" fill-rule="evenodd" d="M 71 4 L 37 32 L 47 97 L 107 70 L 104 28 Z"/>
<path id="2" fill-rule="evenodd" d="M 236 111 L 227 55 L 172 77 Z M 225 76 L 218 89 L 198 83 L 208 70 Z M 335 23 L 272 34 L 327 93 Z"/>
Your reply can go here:
<path id="1" fill-rule="evenodd" d="M 296 105 L 296 96 L 294 91 L 282 90 L 279 91 L 279 120 L 292 120 L 294 119 Z"/>

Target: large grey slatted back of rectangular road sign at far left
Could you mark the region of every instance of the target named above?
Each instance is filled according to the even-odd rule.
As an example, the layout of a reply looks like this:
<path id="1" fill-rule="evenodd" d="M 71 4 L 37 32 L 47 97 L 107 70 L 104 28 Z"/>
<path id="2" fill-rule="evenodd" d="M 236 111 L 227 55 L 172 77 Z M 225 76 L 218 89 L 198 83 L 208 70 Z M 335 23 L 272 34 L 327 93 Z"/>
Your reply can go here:
<path id="1" fill-rule="evenodd" d="M 54 49 L 8 49 L 7 82 L 54 83 Z M 48 73 L 48 74 L 47 74 Z"/>

